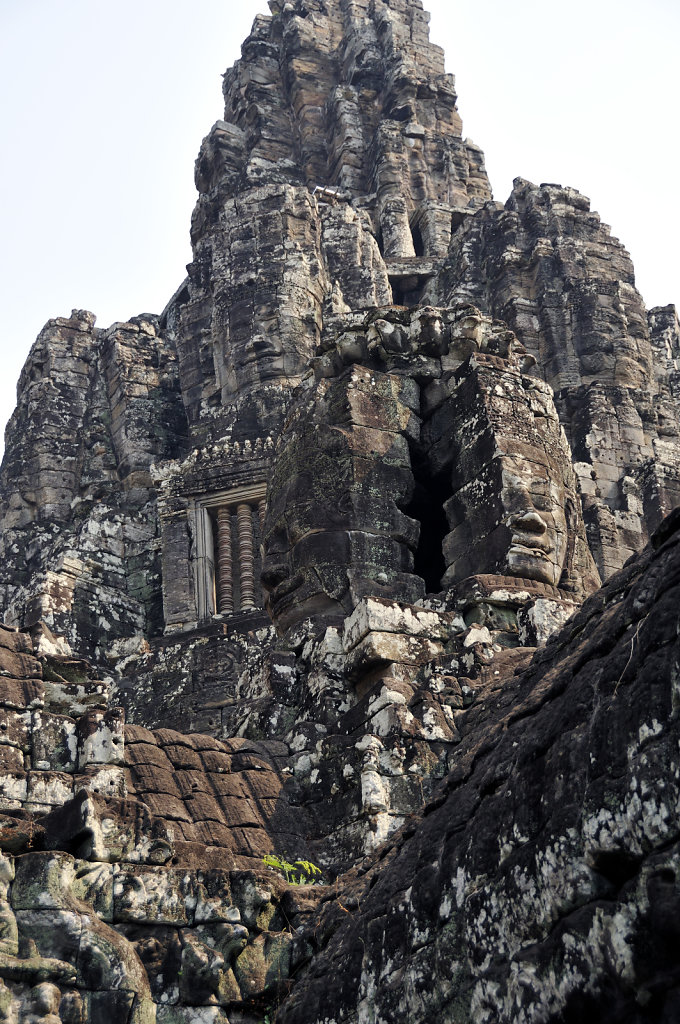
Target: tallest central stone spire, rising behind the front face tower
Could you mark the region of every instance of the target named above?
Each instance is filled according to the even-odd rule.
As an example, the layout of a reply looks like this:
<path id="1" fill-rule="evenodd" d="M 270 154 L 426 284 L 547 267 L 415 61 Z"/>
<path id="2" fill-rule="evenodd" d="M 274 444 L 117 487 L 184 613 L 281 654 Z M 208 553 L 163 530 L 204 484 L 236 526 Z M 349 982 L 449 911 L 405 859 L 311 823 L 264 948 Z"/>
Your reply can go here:
<path id="1" fill-rule="evenodd" d="M 196 166 L 176 336 L 201 440 L 275 430 L 325 314 L 390 303 L 445 254 L 453 211 L 491 198 L 419 2 L 271 8 Z"/>

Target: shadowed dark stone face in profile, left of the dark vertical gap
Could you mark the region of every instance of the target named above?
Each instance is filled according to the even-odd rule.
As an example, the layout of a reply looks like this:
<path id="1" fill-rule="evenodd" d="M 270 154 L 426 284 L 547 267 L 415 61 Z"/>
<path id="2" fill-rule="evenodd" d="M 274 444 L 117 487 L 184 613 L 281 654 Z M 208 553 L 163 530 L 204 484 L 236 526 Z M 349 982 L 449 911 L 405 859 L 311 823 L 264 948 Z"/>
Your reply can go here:
<path id="1" fill-rule="evenodd" d="M 366 594 L 416 600 L 418 527 L 401 382 L 352 368 L 303 393 L 280 441 L 262 544 L 266 607 L 286 631 L 339 625 Z M 409 382 L 403 389 L 410 394 Z"/>

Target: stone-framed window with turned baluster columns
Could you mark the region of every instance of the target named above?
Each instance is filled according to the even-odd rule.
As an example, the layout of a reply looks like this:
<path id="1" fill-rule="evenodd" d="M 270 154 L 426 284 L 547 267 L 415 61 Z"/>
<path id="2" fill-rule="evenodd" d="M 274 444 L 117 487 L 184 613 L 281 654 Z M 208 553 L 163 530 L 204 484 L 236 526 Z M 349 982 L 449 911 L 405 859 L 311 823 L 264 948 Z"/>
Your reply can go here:
<path id="1" fill-rule="evenodd" d="M 197 507 L 199 621 L 262 607 L 260 541 L 265 483 L 220 492 Z"/>

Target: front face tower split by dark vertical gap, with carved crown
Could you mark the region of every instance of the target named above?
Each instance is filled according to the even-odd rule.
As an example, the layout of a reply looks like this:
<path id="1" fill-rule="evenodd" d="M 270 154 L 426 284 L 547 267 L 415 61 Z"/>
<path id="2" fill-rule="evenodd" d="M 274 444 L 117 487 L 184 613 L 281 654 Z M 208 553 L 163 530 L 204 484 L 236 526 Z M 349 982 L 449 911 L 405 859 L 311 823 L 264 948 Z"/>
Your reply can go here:
<path id="1" fill-rule="evenodd" d="M 475 573 L 593 590 L 552 393 L 511 332 L 466 305 L 342 319 L 274 454 L 274 625 L 337 625 L 368 594 L 417 601 Z"/>

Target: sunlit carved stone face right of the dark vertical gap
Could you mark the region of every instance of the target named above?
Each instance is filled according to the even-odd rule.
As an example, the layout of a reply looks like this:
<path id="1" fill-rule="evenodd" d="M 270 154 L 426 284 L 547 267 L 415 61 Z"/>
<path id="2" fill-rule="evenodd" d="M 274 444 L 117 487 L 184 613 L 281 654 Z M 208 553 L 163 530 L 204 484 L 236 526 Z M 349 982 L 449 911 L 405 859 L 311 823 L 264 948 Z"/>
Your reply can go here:
<path id="1" fill-rule="evenodd" d="M 552 391 L 497 358 L 477 356 L 457 377 L 442 418 L 453 442 L 444 586 L 494 574 L 578 590 L 580 574 L 589 588 L 592 559 Z"/>

